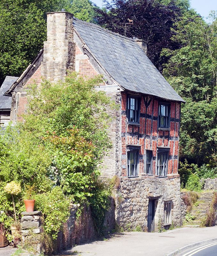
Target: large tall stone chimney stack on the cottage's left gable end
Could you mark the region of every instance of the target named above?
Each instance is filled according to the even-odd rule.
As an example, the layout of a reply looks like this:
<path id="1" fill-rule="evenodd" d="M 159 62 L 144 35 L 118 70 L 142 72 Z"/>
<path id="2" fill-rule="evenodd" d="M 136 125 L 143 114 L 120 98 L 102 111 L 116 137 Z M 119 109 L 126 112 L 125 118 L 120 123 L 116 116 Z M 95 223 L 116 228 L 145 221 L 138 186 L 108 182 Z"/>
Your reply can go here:
<path id="1" fill-rule="evenodd" d="M 42 76 L 55 82 L 63 80 L 67 69 L 74 70 L 74 59 L 73 14 L 47 13 L 47 41 L 44 42 Z"/>

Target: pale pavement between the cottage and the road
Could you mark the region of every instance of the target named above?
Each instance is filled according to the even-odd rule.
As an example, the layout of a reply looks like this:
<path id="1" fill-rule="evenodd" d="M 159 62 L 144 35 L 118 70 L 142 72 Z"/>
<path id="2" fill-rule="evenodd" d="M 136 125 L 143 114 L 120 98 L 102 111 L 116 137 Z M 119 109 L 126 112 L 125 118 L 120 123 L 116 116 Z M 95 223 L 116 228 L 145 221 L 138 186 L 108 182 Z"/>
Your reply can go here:
<path id="1" fill-rule="evenodd" d="M 165 256 L 188 244 L 211 238 L 217 238 L 217 226 L 179 228 L 163 233 L 115 233 L 106 241 L 77 245 L 59 256 Z"/>

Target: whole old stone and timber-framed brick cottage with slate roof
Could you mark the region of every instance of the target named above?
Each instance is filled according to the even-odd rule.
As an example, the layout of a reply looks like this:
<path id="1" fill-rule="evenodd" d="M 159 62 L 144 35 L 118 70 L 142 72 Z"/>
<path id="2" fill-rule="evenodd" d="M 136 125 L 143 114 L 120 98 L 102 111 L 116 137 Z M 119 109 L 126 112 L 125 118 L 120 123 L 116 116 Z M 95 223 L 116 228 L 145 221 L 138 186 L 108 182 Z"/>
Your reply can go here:
<path id="1" fill-rule="evenodd" d="M 115 217 L 123 228 L 157 231 L 181 224 L 178 175 L 180 108 L 184 100 L 146 55 L 147 44 L 73 17 L 47 14 L 47 41 L 38 56 L 6 92 L 11 120 L 25 111 L 25 88 L 41 77 L 64 79 L 102 74 L 103 90 L 119 104 L 109 134 L 113 148 L 104 176 L 118 176 Z"/>

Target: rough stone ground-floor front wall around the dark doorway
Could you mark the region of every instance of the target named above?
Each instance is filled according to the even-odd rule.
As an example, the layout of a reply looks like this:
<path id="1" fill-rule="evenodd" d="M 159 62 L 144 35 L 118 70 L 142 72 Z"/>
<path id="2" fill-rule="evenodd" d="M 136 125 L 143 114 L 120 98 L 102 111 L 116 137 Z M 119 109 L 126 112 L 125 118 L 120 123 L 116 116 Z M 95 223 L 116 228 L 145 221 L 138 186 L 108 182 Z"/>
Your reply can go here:
<path id="1" fill-rule="evenodd" d="M 178 176 L 178 175 L 177 175 Z M 164 200 L 172 200 L 172 222 L 181 225 L 180 178 L 120 178 L 116 191 L 116 220 L 122 228 L 147 231 L 149 199 L 156 199 L 155 231 L 164 221 Z"/>

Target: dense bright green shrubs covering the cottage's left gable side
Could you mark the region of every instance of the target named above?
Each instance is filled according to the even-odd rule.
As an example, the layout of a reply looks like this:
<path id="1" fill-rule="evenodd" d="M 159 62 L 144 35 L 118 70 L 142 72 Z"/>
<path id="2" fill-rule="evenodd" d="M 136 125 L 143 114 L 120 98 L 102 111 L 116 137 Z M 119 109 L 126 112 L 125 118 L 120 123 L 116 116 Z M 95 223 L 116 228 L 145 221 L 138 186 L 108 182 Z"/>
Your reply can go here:
<path id="1" fill-rule="evenodd" d="M 5 223 L 14 215 L 11 197 L 3 189 L 12 180 L 22 188 L 14 196 L 17 215 L 25 209 L 22 198 L 27 186 L 34 185 L 36 207 L 53 238 L 69 214 L 70 201 L 91 204 L 104 214 L 109 188 L 101 184 L 99 168 L 111 147 L 105 109 L 113 103 L 104 92 L 95 91 L 100 82 L 100 76 L 86 80 L 72 73 L 64 83 L 44 81 L 40 90 L 34 85 L 29 91 L 25 122 L 9 125 L 0 136 L 0 205 Z"/>

